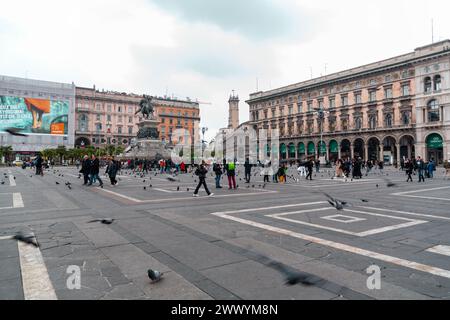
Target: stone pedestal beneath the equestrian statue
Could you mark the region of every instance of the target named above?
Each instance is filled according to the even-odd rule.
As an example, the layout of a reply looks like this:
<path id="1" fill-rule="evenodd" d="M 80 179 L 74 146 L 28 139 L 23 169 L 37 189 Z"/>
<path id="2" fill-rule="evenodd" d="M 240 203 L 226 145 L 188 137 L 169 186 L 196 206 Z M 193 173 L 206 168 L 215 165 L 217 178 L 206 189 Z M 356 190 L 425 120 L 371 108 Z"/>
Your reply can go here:
<path id="1" fill-rule="evenodd" d="M 135 146 L 124 154 L 124 158 L 138 158 L 147 160 L 169 159 L 171 150 L 165 148 L 159 139 L 159 121 L 143 119 L 138 123 L 139 133 Z"/>

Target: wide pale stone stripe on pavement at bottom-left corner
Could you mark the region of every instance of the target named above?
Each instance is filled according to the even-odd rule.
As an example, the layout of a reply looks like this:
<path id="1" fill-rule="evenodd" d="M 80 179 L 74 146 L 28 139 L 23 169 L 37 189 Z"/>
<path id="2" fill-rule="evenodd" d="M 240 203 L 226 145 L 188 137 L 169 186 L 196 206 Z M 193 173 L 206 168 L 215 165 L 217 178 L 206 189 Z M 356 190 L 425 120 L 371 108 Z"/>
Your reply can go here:
<path id="1" fill-rule="evenodd" d="M 57 300 L 39 248 L 18 242 L 25 300 Z"/>

